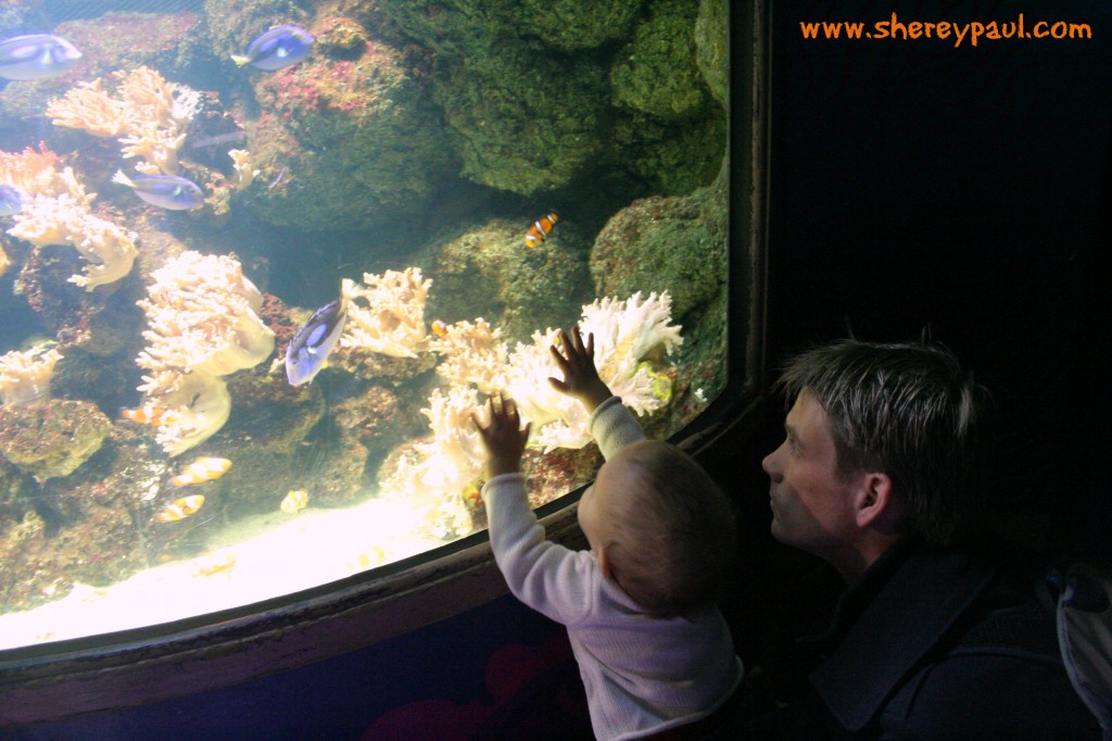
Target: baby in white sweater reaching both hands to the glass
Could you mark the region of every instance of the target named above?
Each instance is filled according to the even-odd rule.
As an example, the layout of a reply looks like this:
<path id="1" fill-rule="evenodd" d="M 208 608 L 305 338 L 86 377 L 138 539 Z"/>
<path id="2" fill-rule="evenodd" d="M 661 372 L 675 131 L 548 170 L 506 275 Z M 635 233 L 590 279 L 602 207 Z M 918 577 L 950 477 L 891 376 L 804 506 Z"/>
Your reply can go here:
<path id="1" fill-rule="evenodd" d="M 474 417 L 487 451 L 483 500 L 495 560 L 522 602 L 567 626 L 598 739 L 711 732 L 707 719 L 742 680 L 714 604 L 734 552 L 729 502 L 688 455 L 645 438 L 598 377 L 594 353 L 594 336 L 584 345 L 578 327 L 562 332 L 552 354 L 564 379 L 548 379 L 592 413 L 606 457 L 579 500 L 590 551 L 545 540 L 520 473 L 529 425 L 496 395 L 489 422 Z"/>

